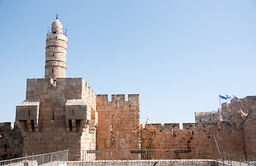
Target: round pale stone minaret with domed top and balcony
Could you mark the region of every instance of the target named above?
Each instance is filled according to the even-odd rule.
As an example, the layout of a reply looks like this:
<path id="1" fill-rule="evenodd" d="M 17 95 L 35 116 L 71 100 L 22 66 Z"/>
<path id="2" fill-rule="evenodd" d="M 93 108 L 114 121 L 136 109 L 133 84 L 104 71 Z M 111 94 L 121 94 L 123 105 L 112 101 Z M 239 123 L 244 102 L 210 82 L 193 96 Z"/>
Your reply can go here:
<path id="1" fill-rule="evenodd" d="M 66 77 L 66 46 L 68 38 L 63 34 L 59 19 L 52 24 L 51 33 L 46 37 L 46 66 L 44 77 L 56 80 Z"/>

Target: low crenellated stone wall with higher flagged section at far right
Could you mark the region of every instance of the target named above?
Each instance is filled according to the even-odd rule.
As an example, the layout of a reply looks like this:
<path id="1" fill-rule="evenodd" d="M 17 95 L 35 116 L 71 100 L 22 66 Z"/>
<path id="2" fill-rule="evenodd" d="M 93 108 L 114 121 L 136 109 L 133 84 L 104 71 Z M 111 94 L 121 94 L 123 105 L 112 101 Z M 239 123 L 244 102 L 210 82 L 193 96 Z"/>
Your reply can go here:
<path id="1" fill-rule="evenodd" d="M 228 106 L 223 103 L 219 111 L 196 112 L 196 123 L 183 124 L 183 130 L 179 129 L 179 124 L 145 124 L 145 129 L 141 128 L 140 133 L 141 148 L 217 150 L 218 146 L 223 151 L 245 154 L 247 144 L 248 154 L 255 154 L 255 111 L 256 96 L 248 96 L 233 99 Z M 250 115 L 246 119 L 248 113 Z M 243 128 L 241 121 L 245 119 Z"/>

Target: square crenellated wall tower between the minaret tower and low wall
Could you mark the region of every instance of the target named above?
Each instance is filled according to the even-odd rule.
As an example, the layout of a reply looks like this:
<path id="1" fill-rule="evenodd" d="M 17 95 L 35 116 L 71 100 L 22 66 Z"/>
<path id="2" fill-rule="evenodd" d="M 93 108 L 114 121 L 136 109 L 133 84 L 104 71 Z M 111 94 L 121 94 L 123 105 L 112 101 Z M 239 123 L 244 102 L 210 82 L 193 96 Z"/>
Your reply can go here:
<path id="1" fill-rule="evenodd" d="M 139 95 L 97 95 L 96 149 L 140 149 Z"/>

